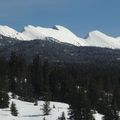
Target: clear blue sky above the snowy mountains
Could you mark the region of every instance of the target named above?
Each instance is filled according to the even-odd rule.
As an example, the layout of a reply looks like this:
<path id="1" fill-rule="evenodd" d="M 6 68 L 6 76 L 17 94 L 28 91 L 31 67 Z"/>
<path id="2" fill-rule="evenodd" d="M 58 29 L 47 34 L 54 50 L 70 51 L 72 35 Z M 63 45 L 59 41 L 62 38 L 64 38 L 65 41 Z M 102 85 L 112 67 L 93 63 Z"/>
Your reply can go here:
<path id="1" fill-rule="evenodd" d="M 62 25 L 80 37 L 93 30 L 120 36 L 120 0 L 0 0 L 0 25 Z"/>

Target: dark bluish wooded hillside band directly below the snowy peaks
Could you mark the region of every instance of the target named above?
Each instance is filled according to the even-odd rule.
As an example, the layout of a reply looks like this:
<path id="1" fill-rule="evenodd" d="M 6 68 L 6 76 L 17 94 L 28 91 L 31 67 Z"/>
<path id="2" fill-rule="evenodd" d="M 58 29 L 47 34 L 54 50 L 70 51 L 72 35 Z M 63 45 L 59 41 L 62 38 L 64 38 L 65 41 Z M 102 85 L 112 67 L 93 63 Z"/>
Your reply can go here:
<path id="1" fill-rule="evenodd" d="M 60 44 L 52 40 L 13 41 L 2 40 L 0 56 L 9 58 L 11 52 L 23 54 L 30 62 L 38 54 L 41 59 L 50 62 L 85 63 L 96 60 L 113 61 L 120 58 L 120 50 L 99 47 L 77 47 L 71 44 Z M 0 40 L 1 41 L 1 40 Z"/>

